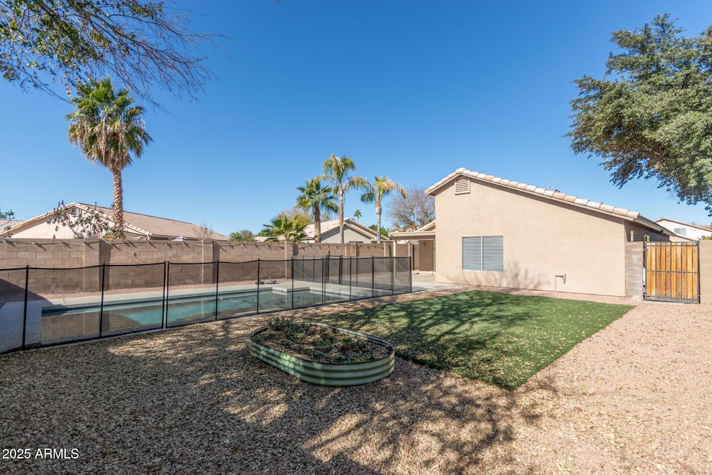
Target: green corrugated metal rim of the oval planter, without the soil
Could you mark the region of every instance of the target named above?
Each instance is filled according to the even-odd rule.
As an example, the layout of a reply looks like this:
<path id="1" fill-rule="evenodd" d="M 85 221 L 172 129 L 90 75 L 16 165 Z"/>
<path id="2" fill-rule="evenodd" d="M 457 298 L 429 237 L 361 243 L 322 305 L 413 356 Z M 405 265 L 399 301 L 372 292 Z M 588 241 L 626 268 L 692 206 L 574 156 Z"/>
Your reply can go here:
<path id="1" fill-rule="evenodd" d="M 318 325 L 332 328 L 347 335 L 354 335 L 365 338 L 377 345 L 383 345 L 389 349 L 388 355 L 379 360 L 358 363 L 321 363 L 310 360 L 303 360 L 300 357 L 289 355 L 274 348 L 270 348 L 253 340 L 255 335 L 266 330 L 268 327 L 258 328 L 250 333 L 250 354 L 266 362 L 268 365 L 278 367 L 280 370 L 298 377 L 302 381 L 323 386 L 355 386 L 363 385 L 367 382 L 381 380 L 393 372 L 395 367 L 395 349 L 386 340 L 375 336 L 365 335 L 353 330 L 335 327 L 326 323 L 296 322 L 303 325 Z"/>

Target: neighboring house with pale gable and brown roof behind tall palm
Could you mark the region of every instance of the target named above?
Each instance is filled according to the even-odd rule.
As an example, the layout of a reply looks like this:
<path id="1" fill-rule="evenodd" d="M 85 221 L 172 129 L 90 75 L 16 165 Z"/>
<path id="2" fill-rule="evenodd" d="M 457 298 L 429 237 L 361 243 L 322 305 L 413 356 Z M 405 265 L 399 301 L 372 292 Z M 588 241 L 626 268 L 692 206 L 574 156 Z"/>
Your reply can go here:
<path id="1" fill-rule="evenodd" d="M 84 216 L 96 216 L 106 229 L 114 226 L 114 212 L 110 208 L 99 207 L 92 204 L 70 203 L 61 208 L 66 211 L 70 222 Z M 77 239 L 90 236 L 88 231 L 83 231 L 81 226 L 63 226 L 48 223 L 55 210 L 35 216 L 27 221 L 21 221 L 10 229 L 0 229 L 0 237 L 11 236 L 14 239 Z M 205 229 L 196 224 L 176 221 L 174 219 L 159 218 L 124 211 L 124 232 L 130 241 L 147 240 L 172 240 L 180 239 L 195 241 L 200 239 L 227 240 L 227 236 Z"/>

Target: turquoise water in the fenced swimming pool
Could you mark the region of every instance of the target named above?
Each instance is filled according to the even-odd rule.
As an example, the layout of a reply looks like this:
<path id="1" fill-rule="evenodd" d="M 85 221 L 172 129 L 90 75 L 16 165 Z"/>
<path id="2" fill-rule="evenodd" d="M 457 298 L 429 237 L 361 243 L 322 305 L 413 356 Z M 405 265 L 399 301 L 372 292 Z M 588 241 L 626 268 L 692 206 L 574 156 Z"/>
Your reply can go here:
<path id="1" fill-rule="evenodd" d="M 207 320 L 209 318 L 247 315 L 286 308 L 302 308 L 322 305 L 342 300 L 333 293 L 320 291 L 279 292 L 265 290 L 204 296 L 169 296 L 165 306 L 167 325 L 187 320 Z M 216 313 L 217 305 L 217 313 Z M 159 328 L 163 324 L 163 303 L 160 298 L 151 301 L 131 303 L 105 303 L 103 320 L 109 329 L 133 328 L 136 326 Z M 42 311 L 43 318 L 75 315 L 83 320 L 97 320 L 100 305 L 80 308 L 52 308 Z M 106 323 L 105 323 L 106 325 Z"/>

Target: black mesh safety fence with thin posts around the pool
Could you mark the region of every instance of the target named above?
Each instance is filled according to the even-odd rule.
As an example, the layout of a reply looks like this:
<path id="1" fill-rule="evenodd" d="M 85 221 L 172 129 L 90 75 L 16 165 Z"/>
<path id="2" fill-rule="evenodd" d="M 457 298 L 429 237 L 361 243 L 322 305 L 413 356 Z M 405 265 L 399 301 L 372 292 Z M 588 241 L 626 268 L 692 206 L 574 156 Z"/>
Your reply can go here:
<path id="1" fill-rule="evenodd" d="M 0 353 L 412 292 L 410 257 L 0 269 Z"/>

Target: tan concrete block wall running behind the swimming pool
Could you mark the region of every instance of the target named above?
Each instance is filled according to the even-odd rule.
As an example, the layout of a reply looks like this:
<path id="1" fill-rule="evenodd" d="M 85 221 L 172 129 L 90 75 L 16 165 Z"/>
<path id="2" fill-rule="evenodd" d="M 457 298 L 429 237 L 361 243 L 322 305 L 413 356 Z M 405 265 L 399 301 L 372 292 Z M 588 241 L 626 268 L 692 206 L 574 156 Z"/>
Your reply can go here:
<path id="1" fill-rule="evenodd" d="M 295 259 L 323 256 L 384 257 L 392 243 L 310 244 L 242 243 L 231 241 L 105 241 L 100 239 L 4 239 L 0 241 L 0 296 L 23 294 L 25 269 L 30 266 L 29 291 L 83 293 L 101 290 L 102 264 L 107 292 L 125 288 L 161 288 L 164 262 L 169 262 L 171 286 L 207 286 L 215 282 L 220 261 L 220 281 L 256 281 L 257 278 L 291 278 Z M 256 261 L 260 260 L 259 276 Z M 252 262 L 250 262 L 252 261 Z M 268 262 L 280 261 L 280 262 Z M 237 264 L 239 263 L 239 264 Z M 120 264 L 120 266 L 114 266 Z M 151 265 L 150 265 L 151 264 Z M 39 269 L 34 269 L 35 267 Z M 85 267 L 84 269 L 78 269 Z"/>

